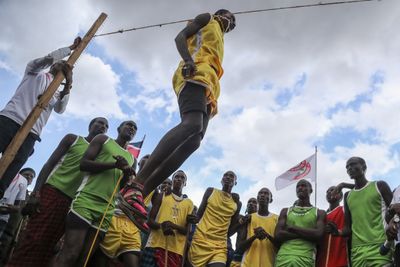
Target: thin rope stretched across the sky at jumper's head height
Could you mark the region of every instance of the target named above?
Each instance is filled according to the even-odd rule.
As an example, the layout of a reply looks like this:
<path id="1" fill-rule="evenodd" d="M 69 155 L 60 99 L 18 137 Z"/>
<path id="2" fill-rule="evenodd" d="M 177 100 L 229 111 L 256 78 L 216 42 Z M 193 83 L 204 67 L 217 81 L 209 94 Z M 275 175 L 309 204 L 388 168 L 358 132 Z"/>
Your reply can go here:
<path id="1" fill-rule="evenodd" d="M 297 8 L 323 7 L 323 6 L 333 6 L 333 5 L 343 5 L 343 4 L 356 4 L 356 3 L 372 2 L 372 1 L 382 1 L 382 0 L 348 0 L 348 1 L 336 1 L 336 2 L 327 2 L 327 3 L 318 2 L 318 3 L 315 3 L 315 4 L 305 4 L 305 5 L 283 6 L 283 7 L 272 7 L 272 8 L 264 8 L 264 9 L 237 11 L 237 12 L 233 12 L 232 14 L 243 15 L 243 14 L 278 11 L 278 10 L 287 10 L 287 9 L 297 9 Z M 126 30 L 120 29 L 120 30 L 116 30 L 116 31 L 112 31 L 112 32 L 96 34 L 94 37 L 107 36 L 107 35 L 113 35 L 113 34 L 117 34 L 117 33 L 130 32 L 130 31 L 138 31 L 138 30 L 144 30 L 144 29 L 155 28 L 155 27 L 162 27 L 162 26 L 165 26 L 165 25 L 172 25 L 172 24 L 178 24 L 178 23 L 182 23 L 182 22 L 187 22 L 187 21 L 190 21 L 190 20 L 192 20 L 192 19 L 182 19 L 182 20 L 176 20 L 176 21 L 171 21 L 171 22 L 151 24 L 151 25 L 146 25 L 146 26 L 129 28 L 129 29 L 126 29 Z"/>

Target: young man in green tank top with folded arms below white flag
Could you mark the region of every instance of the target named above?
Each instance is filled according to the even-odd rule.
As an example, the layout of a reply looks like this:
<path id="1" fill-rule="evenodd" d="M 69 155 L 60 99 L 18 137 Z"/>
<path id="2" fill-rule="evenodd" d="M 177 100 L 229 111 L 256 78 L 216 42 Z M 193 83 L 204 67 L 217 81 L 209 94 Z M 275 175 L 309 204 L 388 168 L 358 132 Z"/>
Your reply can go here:
<path id="1" fill-rule="evenodd" d="M 282 209 L 276 226 L 275 239 L 281 243 L 276 267 L 314 266 L 316 245 L 324 235 L 326 213 L 311 205 L 311 183 L 300 180 L 296 193 L 295 205 Z"/>

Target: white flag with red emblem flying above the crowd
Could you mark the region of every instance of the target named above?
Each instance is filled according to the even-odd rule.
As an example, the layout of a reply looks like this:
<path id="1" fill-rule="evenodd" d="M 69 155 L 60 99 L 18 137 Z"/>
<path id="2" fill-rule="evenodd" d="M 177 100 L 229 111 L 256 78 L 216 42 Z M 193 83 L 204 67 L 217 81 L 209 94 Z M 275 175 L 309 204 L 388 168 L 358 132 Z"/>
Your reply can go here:
<path id="1" fill-rule="evenodd" d="M 276 177 L 275 188 L 276 190 L 281 190 L 282 188 L 285 188 L 286 186 L 295 183 L 303 178 L 310 178 L 311 181 L 315 181 L 315 154 L 303 160 L 285 173 Z"/>

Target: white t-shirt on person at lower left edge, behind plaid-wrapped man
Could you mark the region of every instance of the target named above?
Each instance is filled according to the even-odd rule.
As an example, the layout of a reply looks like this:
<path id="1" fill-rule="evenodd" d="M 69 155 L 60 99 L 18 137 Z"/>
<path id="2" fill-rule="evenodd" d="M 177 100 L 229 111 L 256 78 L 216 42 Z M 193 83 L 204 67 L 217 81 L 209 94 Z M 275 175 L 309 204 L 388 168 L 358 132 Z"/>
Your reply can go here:
<path id="1" fill-rule="evenodd" d="M 23 201 L 26 198 L 26 188 L 28 187 L 28 181 L 21 174 L 17 174 L 11 184 L 8 186 L 6 192 L 4 192 L 3 198 L 0 200 L 1 204 L 14 205 L 16 200 Z M 10 214 L 0 215 L 0 220 L 8 222 Z"/>

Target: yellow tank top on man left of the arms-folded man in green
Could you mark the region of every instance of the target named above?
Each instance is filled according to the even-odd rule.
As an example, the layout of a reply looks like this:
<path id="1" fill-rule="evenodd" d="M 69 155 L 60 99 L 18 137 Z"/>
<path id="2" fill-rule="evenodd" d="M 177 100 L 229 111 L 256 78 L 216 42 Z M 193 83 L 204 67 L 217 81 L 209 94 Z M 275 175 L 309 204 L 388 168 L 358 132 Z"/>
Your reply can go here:
<path id="1" fill-rule="evenodd" d="M 247 238 L 254 235 L 254 228 L 262 227 L 274 236 L 275 227 L 278 222 L 278 215 L 270 213 L 268 216 L 261 216 L 257 213 L 251 214 L 251 222 L 247 226 Z M 243 254 L 241 266 L 251 267 L 272 267 L 274 266 L 276 250 L 269 239 L 256 239 L 251 247 Z"/>

